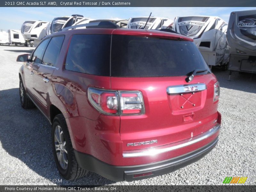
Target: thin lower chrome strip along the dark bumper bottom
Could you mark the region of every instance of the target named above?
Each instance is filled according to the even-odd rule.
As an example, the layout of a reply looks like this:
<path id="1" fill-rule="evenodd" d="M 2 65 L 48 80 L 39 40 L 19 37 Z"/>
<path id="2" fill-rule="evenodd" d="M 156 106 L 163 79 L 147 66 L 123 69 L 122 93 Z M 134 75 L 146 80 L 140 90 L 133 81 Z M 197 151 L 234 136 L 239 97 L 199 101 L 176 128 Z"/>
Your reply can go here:
<path id="1" fill-rule="evenodd" d="M 210 148 L 212 148 L 212 146 L 214 146 L 214 145 L 218 142 L 218 140 L 219 140 L 219 139 L 216 139 L 210 146 L 208 146 L 208 147 L 205 148 L 204 150 L 198 151 L 197 153 L 195 153 L 195 154 L 193 154 L 193 155 L 190 155 L 190 156 L 188 156 L 188 157 L 186 157 L 186 158 L 183 158 L 183 159 L 180 159 L 180 160 L 177 160 L 177 161 L 173 161 L 173 162 L 168 163 L 168 164 L 163 164 L 163 165 L 159 165 L 159 166 L 155 166 L 155 167 L 149 167 L 149 168 L 146 168 L 146 169 L 140 169 L 140 170 L 135 170 L 135 171 L 125 171 L 125 173 L 136 173 L 136 172 L 151 171 L 151 170 L 155 170 L 155 169 L 159 169 L 159 168 L 163 168 L 163 167 L 168 167 L 168 166 L 171 166 L 171 165 L 173 165 L 173 164 L 178 164 L 178 163 L 180 163 L 180 162 L 185 162 L 186 160 L 189 160 L 189 159 L 191 159 L 191 158 L 193 158 L 193 157 L 196 157 L 196 156 L 198 156 L 198 155 L 204 153 L 205 151 L 209 150 Z M 204 146 L 203 146 L 203 147 L 204 147 Z M 201 147 L 201 148 L 203 148 L 203 147 Z M 201 148 L 200 148 L 200 149 L 201 149 Z M 200 150 L 200 149 L 197 149 L 197 150 Z M 195 150 L 195 151 L 197 151 L 197 150 Z M 193 153 L 193 152 L 195 152 L 195 151 L 191 151 L 190 153 Z M 190 154 L 190 153 L 187 153 L 187 154 L 184 154 L 184 155 L 181 155 L 181 156 L 185 156 L 185 155 L 188 155 L 188 154 Z M 181 156 L 178 156 L 178 157 L 175 157 L 175 158 L 179 158 L 179 157 L 181 157 Z M 175 159 L 175 158 L 173 158 L 173 159 Z"/>

